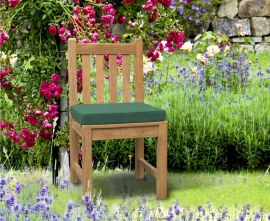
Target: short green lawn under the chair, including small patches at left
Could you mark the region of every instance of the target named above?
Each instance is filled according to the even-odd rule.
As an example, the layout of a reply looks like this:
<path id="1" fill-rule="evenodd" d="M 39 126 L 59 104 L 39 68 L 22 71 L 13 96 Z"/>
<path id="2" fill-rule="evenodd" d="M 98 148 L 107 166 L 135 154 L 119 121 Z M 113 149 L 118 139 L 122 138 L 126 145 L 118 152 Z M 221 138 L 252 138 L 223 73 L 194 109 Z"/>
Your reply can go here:
<path id="1" fill-rule="evenodd" d="M 35 195 L 41 187 L 35 182 L 38 177 L 45 178 L 44 171 L 17 177 L 25 184 L 34 183 L 30 190 L 24 192 L 23 197 L 27 202 L 30 200 L 29 194 Z M 47 178 L 50 180 L 50 177 Z M 192 210 L 196 210 L 199 205 L 210 204 L 214 208 L 228 208 L 233 212 L 250 204 L 253 210 L 263 207 L 264 211 L 270 212 L 270 174 L 264 172 L 169 173 L 168 198 L 163 201 L 156 200 L 155 179 L 148 174 L 144 180 L 136 180 L 133 171 L 95 171 L 93 187 L 95 196 L 100 195 L 110 210 L 123 203 L 123 196 L 126 195 L 131 208 L 136 208 L 142 197 L 146 196 L 148 206 L 157 207 L 159 202 L 164 209 L 178 201 L 182 208 Z M 70 185 L 64 190 L 51 186 L 50 191 L 55 196 L 52 211 L 59 214 L 64 213 L 70 200 L 78 203 L 82 199 L 81 184 Z"/>

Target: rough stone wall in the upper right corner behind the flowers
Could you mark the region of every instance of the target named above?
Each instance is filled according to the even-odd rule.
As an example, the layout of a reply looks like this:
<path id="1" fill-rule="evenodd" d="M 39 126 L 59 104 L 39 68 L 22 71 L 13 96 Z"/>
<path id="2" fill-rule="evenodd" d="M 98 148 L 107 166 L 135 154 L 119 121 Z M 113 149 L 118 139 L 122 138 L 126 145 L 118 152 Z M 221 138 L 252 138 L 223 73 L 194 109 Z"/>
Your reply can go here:
<path id="1" fill-rule="evenodd" d="M 225 0 L 212 21 L 213 31 L 248 50 L 270 51 L 270 0 Z M 254 45 L 245 44 L 249 37 Z"/>

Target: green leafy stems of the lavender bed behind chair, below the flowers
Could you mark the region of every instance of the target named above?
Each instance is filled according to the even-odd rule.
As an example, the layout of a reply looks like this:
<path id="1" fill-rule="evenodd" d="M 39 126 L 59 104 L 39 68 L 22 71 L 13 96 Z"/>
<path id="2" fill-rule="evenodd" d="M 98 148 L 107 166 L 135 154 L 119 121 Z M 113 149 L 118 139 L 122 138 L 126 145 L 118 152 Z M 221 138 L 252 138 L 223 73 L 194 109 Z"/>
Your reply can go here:
<path id="1" fill-rule="evenodd" d="M 170 169 L 231 170 L 267 166 L 268 88 L 251 87 L 245 93 L 220 94 L 209 88 L 205 95 L 196 90 L 171 91 L 148 100 L 153 105 L 162 104 L 167 111 Z M 154 152 L 153 147 L 151 150 Z"/>

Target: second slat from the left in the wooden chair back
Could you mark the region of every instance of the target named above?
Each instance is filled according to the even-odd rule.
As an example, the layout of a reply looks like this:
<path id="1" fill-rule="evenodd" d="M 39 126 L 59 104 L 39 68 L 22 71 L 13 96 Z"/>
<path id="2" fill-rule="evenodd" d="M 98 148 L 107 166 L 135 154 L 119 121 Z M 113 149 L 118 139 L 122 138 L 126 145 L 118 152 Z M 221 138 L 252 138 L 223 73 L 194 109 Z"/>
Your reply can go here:
<path id="1" fill-rule="evenodd" d="M 96 92 L 97 103 L 104 103 L 104 59 L 103 55 L 96 56 Z"/>

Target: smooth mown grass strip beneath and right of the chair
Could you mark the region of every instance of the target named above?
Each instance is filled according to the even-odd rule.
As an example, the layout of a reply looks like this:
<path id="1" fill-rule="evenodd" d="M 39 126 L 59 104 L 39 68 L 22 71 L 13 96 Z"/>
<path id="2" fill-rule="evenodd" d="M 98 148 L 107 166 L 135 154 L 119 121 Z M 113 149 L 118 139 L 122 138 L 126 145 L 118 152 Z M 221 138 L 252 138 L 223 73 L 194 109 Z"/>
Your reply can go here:
<path id="1" fill-rule="evenodd" d="M 94 187 L 102 192 L 109 204 L 120 203 L 124 194 L 134 191 L 134 197 L 148 195 L 155 203 L 155 180 L 146 176 L 138 181 L 130 172 L 113 172 L 94 177 Z M 169 207 L 177 200 L 184 207 L 197 207 L 210 202 L 217 207 L 233 208 L 249 203 L 252 207 L 264 207 L 270 211 L 270 176 L 263 173 L 170 173 L 167 200 L 162 205 Z"/>

